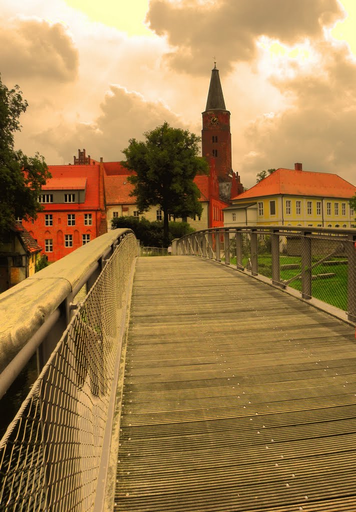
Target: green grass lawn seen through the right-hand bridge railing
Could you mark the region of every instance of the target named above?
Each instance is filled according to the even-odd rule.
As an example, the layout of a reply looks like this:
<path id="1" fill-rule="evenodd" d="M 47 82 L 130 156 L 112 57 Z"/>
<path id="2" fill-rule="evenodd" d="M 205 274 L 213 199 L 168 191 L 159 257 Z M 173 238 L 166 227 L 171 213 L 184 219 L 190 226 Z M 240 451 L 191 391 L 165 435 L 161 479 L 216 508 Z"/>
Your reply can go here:
<path id="1" fill-rule="evenodd" d="M 345 260 L 345 258 L 330 258 L 332 261 Z M 243 265 L 246 266 L 248 258 L 243 258 Z M 236 258 L 230 258 L 230 263 L 236 265 Z M 258 256 L 259 273 L 272 278 L 272 257 L 270 254 L 259 254 Z M 301 258 L 299 256 L 280 256 L 280 265 L 298 264 L 298 269 L 281 269 L 281 280 L 287 281 L 301 272 Z M 347 265 L 328 265 L 322 263 L 312 269 L 312 275 L 317 274 L 335 274 L 331 278 L 318 278 L 311 282 L 312 296 L 320 301 L 326 302 L 332 306 L 347 310 Z M 300 278 L 296 278 L 288 283 L 288 286 L 295 290 L 302 290 Z"/>

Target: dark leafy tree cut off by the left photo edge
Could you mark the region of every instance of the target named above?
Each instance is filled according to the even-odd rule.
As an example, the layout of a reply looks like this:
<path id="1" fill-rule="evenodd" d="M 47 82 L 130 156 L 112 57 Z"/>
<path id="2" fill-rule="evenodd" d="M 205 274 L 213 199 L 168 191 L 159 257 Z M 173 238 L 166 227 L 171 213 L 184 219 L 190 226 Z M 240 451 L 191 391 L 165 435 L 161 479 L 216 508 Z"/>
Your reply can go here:
<path id="1" fill-rule="evenodd" d="M 51 177 L 43 156 L 28 157 L 14 149 L 19 116 L 28 103 L 18 86 L 8 89 L 0 75 L 0 239 L 17 217 L 33 219 L 42 209 L 38 194 Z"/>

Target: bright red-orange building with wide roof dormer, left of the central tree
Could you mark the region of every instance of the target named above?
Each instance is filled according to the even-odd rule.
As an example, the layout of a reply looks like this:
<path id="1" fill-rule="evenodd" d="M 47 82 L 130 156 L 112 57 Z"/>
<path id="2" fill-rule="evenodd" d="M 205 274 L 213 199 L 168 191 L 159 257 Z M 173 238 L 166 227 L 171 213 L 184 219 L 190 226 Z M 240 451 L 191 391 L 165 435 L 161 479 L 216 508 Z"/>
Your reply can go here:
<path id="1" fill-rule="evenodd" d="M 85 157 L 85 150 L 80 153 L 86 164 L 48 166 L 52 178 L 38 198 L 44 210 L 36 220 L 23 221 L 50 262 L 107 231 L 103 162 Z"/>

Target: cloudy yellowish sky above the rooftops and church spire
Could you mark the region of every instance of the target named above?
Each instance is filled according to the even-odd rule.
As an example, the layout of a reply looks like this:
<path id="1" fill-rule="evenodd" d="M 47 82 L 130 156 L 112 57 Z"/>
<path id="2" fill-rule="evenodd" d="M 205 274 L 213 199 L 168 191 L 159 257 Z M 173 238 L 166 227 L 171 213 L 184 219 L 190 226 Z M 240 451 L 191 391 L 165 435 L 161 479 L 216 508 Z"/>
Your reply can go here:
<path id="1" fill-rule="evenodd" d="M 269 167 L 356 184 L 355 0 L 0 0 L 0 73 L 29 108 L 16 147 L 121 160 L 167 120 L 200 135 L 213 57 L 245 186 Z"/>

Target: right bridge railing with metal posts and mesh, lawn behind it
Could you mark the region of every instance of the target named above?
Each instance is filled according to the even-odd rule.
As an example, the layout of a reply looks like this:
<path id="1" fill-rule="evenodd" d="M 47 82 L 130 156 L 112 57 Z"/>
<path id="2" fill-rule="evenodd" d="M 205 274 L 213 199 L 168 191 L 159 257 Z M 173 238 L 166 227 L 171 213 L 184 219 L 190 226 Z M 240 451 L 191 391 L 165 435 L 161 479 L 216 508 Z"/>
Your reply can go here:
<path id="1" fill-rule="evenodd" d="M 356 322 L 356 229 L 293 226 L 212 228 L 173 243 L 173 253 L 235 265 Z"/>

